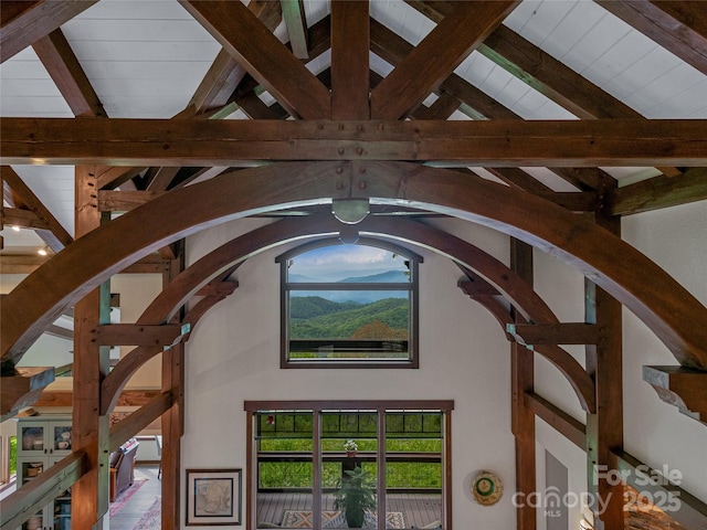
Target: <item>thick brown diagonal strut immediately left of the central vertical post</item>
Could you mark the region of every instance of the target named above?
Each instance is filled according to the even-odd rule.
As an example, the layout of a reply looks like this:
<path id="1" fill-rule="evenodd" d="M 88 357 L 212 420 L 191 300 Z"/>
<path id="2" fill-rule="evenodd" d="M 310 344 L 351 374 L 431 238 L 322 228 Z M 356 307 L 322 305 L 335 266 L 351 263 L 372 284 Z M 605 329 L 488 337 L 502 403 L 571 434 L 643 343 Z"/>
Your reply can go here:
<path id="1" fill-rule="evenodd" d="M 241 2 L 181 0 L 221 45 L 293 116 L 324 119 L 329 91 Z"/>

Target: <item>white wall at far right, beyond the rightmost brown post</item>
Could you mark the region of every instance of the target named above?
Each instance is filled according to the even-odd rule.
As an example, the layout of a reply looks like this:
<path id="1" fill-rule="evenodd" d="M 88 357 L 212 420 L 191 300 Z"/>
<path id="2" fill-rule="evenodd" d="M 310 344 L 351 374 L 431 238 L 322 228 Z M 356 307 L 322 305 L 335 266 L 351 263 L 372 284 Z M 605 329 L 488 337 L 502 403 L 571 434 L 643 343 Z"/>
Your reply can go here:
<path id="1" fill-rule="evenodd" d="M 625 218 L 623 237 L 707 305 L 707 201 Z M 677 361 L 627 310 L 623 339 L 626 451 L 654 468 L 679 471 L 680 486 L 707 501 L 707 426 L 661 401 L 642 379 L 643 365 Z"/>

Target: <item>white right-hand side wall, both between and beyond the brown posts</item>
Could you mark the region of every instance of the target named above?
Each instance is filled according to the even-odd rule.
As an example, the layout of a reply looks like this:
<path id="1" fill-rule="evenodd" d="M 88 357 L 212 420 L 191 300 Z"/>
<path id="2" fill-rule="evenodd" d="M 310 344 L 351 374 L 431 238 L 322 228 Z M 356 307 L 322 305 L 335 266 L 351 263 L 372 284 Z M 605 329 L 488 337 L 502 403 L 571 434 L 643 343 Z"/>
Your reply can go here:
<path id="1" fill-rule="evenodd" d="M 624 218 L 623 239 L 661 265 L 700 303 L 707 305 L 707 202 Z M 564 263 L 536 251 L 536 290 L 563 321 L 583 321 L 583 278 Z M 707 325 L 707 322 L 705 322 Z M 707 427 L 667 405 L 642 378 L 645 364 L 676 365 L 673 354 L 630 310 L 623 310 L 623 383 L 625 451 L 655 469 L 682 474 L 679 484 L 707 501 Z M 582 347 L 564 347 L 583 363 Z M 573 392 L 549 363 L 536 354 L 536 392 L 585 423 Z M 570 474 L 570 489 L 583 488 L 585 460 L 571 444 L 540 422 L 538 455 L 547 448 Z M 541 458 L 539 456 L 538 458 Z M 540 460 L 539 460 L 540 462 Z M 545 488 L 538 474 L 538 489 Z M 571 520 L 571 519 L 570 519 Z M 540 530 L 544 526 L 540 523 Z"/>

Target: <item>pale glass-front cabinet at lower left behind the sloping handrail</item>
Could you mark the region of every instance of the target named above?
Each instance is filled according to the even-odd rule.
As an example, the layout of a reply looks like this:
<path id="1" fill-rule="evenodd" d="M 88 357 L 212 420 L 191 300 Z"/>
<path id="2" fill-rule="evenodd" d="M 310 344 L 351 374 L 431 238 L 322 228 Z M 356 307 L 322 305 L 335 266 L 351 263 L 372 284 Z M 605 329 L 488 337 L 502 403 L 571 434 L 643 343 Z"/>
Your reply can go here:
<path id="1" fill-rule="evenodd" d="M 18 487 L 36 479 L 71 454 L 70 417 L 18 422 Z M 71 488 L 30 517 L 21 530 L 71 530 Z"/>

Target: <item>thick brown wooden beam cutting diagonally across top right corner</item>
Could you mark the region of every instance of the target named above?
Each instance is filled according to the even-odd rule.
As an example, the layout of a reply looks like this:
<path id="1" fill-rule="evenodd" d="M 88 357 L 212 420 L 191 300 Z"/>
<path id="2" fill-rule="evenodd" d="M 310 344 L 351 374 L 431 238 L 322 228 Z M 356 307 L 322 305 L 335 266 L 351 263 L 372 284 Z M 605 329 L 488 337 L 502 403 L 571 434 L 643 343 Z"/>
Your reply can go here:
<path id="1" fill-rule="evenodd" d="M 707 11 L 703 1 L 595 1 L 707 75 Z"/>

